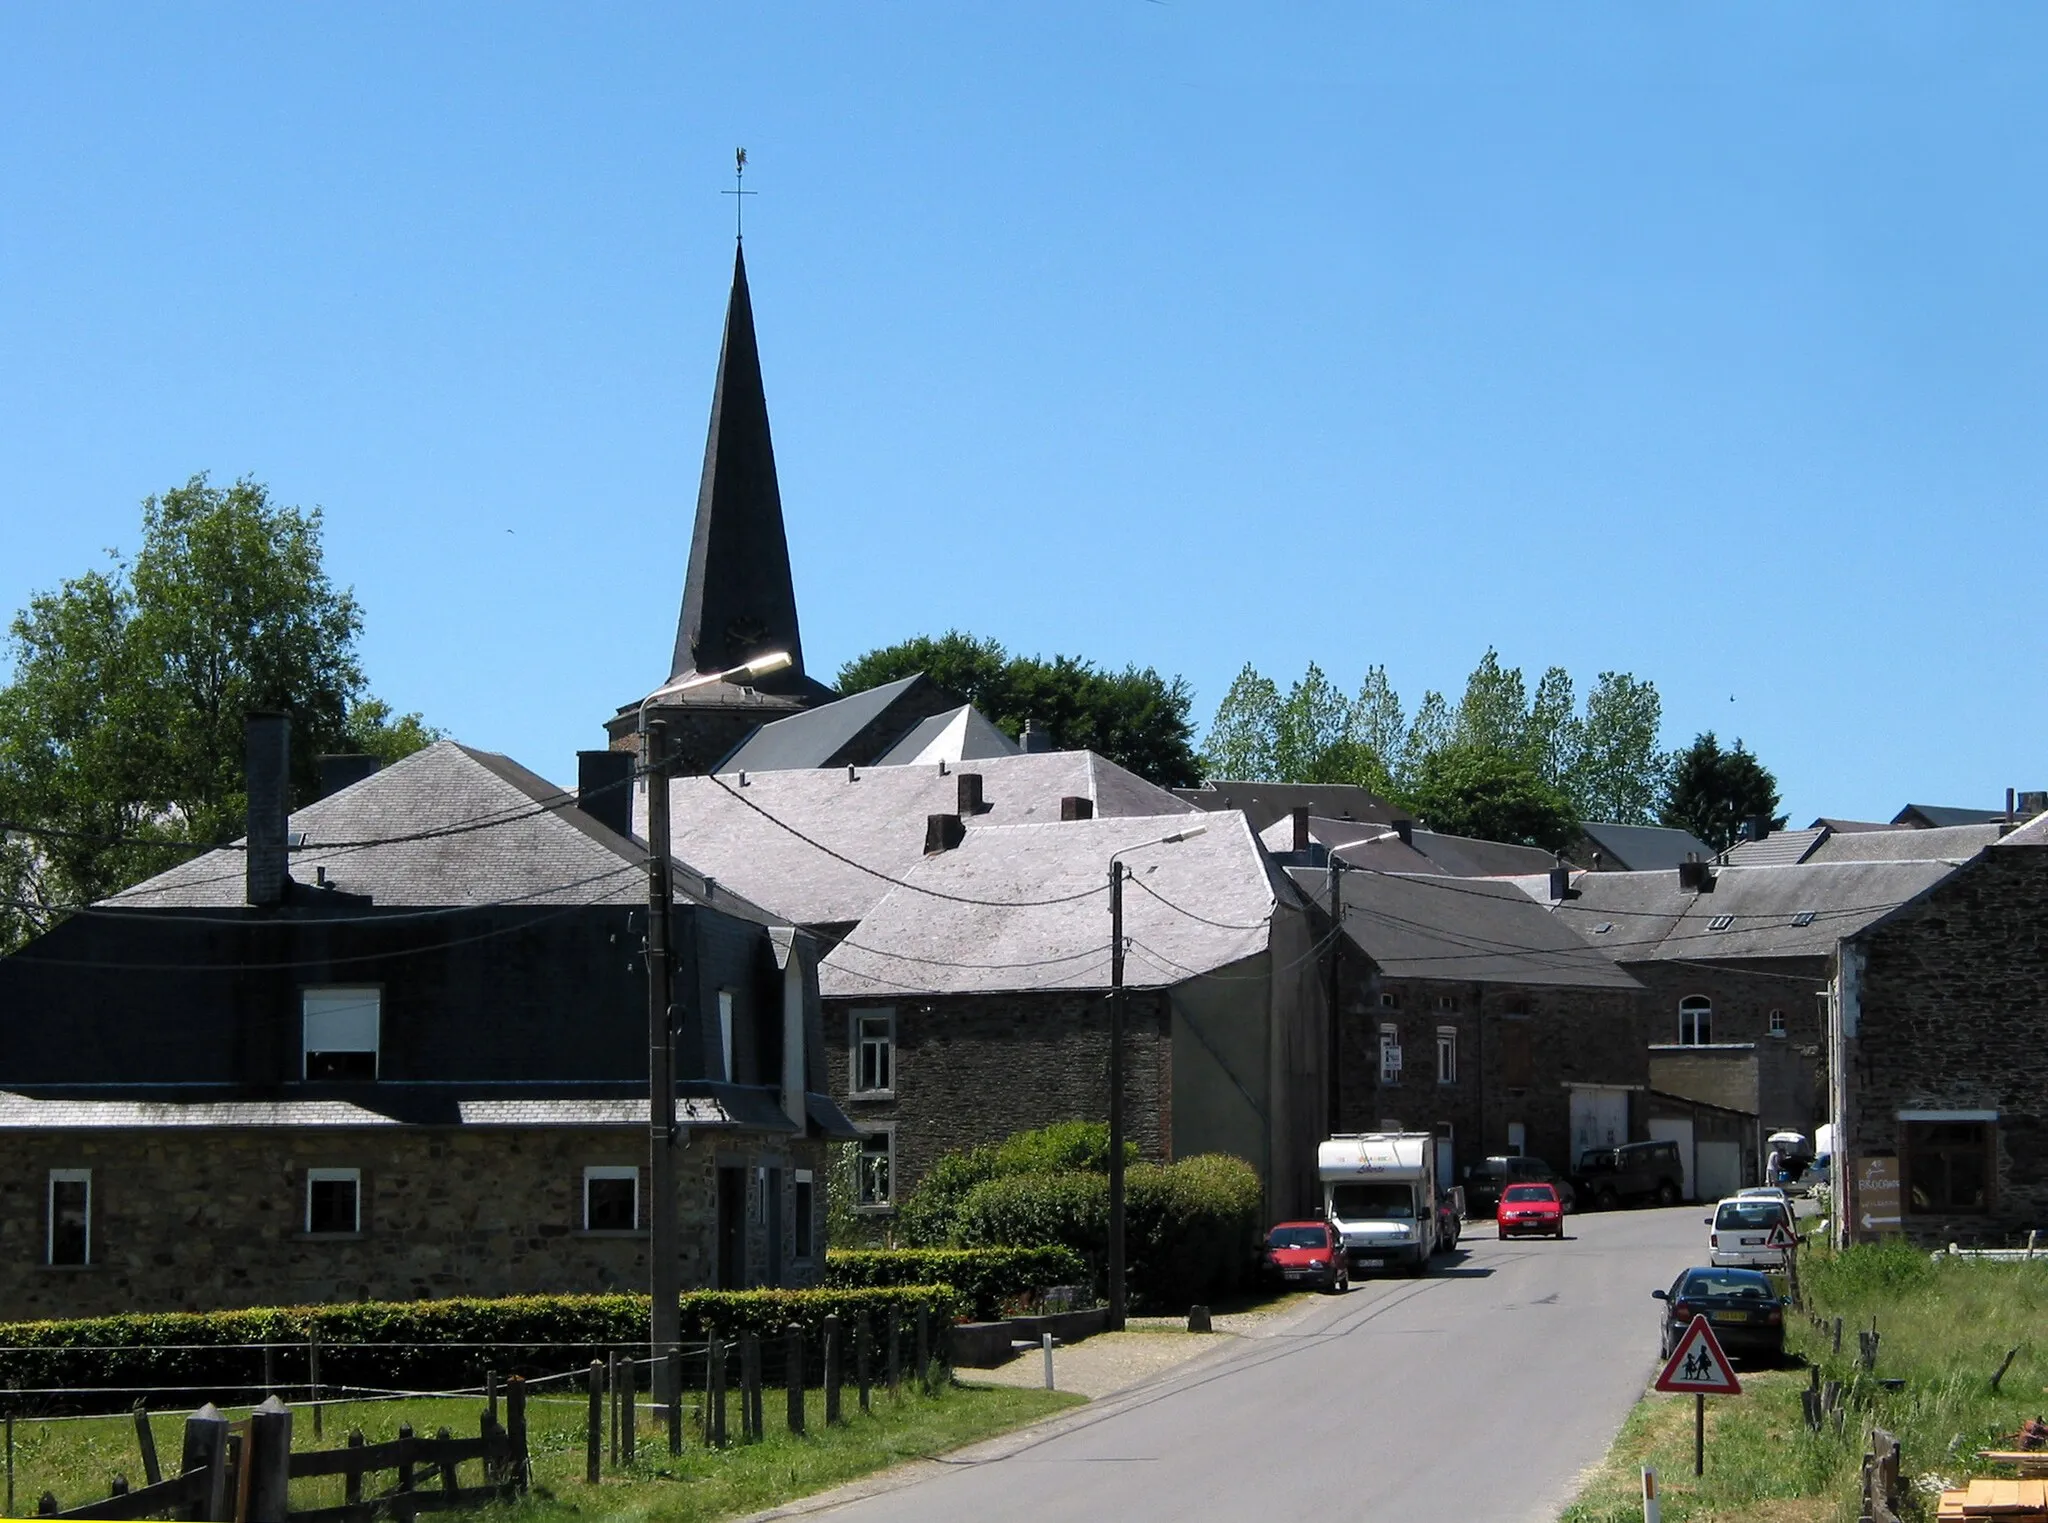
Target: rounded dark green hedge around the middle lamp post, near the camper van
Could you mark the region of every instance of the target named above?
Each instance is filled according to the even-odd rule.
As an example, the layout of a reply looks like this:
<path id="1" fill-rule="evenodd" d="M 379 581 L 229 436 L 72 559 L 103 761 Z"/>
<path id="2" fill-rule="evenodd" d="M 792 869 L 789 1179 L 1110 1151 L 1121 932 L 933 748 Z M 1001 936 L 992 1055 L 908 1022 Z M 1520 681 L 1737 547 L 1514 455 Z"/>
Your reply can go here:
<path id="1" fill-rule="evenodd" d="M 967 1247 L 1071 1249 L 1106 1288 L 1110 1183 L 1096 1173 L 999 1175 L 967 1191 Z M 1124 1283 L 1151 1310 L 1180 1312 L 1237 1290 L 1260 1234 L 1260 1177 L 1241 1159 L 1137 1165 L 1124 1175 Z"/>

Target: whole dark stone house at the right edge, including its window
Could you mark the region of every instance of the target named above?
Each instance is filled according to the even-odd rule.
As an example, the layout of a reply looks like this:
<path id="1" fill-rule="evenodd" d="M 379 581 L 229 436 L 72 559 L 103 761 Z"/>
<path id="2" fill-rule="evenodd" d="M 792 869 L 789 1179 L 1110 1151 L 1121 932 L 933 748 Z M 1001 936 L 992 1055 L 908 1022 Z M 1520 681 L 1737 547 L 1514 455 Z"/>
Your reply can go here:
<path id="1" fill-rule="evenodd" d="M 1827 1034 L 1839 1241 L 2007 1245 L 2048 1226 L 2044 927 L 2048 817 L 1843 938 Z"/>

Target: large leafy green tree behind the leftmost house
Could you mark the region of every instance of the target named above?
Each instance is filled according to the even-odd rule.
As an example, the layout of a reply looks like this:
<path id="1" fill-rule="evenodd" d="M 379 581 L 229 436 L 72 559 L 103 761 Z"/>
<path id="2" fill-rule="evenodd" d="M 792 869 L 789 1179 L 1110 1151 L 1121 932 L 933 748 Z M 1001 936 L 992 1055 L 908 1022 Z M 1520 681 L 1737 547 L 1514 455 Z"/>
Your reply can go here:
<path id="1" fill-rule="evenodd" d="M 0 948 L 193 847 L 242 833 L 242 721 L 291 714 L 295 794 L 317 751 L 434 739 L 365 694 L 362 612 L 322 569 L 319 512 L 199 475 L 141 508 L 133 563 L 41 594 L 0 688 Z M 25 907 L 27 905 L 27 907 Z"/>

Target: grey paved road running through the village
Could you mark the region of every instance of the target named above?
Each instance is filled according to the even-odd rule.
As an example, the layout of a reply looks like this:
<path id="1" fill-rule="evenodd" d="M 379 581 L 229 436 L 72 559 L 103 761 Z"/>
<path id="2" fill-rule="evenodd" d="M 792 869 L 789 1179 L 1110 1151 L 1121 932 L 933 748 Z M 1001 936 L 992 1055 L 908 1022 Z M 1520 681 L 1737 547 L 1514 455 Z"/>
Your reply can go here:
<path id="1" fill-rule="evenodd" d="M 1051 1437 L 829 1517 L 1554 1519 L 1653 1374 L 1651 1290 L 1706 1241 L 1698 1206 L 1569 1222 L 1565 1243 L 1487 1224 L 1427 1279 L 1364 1281 Z"/>

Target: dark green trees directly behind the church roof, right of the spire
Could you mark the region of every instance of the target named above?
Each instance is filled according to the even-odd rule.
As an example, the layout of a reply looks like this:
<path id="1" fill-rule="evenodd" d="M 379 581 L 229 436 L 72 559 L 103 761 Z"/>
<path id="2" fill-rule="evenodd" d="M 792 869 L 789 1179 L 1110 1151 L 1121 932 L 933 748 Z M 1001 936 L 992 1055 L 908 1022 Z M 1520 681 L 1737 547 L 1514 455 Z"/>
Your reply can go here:
<path id="1" fill-rule="evenodd" d="M 1012 737 L 1026 721 L 1053 743 L 1098 751 L 1161 788 L 1200 782 L 1194 694 L 1182 678 L 1161 678 L 1153 667 L 1108 671 L 1094 661 L 1055 655 L 1010 655 L 993 639 L 961 630 L 920 635 L 854 657 L 840 667 L 840 692 L 864 692 L 922 671 L 940 688 L 971 702 Z"/>

